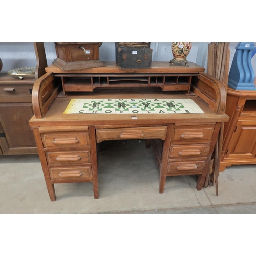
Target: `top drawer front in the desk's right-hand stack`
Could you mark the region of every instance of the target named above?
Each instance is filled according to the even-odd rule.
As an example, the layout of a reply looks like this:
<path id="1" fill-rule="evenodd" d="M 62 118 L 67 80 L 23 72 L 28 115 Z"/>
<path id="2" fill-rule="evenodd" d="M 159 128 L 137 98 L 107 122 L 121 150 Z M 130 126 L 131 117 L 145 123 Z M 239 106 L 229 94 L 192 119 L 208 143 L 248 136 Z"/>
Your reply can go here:
<path id="1" fill-rule="evenodd" d="M 210 142 L 214 126 L 210 127 L 175 127 L 173 142 Z"/>

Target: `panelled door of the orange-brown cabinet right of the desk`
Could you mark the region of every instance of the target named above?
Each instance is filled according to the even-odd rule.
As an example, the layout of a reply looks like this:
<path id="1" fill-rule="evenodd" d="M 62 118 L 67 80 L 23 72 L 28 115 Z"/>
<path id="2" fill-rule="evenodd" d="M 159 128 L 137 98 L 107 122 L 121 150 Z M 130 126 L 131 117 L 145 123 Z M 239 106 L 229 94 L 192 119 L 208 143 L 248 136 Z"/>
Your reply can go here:
<path id="1" fill-rule="evenodd" d="M 229 158 L 255 158 L 256 121 L 239 121 L 232 137 Z"/>

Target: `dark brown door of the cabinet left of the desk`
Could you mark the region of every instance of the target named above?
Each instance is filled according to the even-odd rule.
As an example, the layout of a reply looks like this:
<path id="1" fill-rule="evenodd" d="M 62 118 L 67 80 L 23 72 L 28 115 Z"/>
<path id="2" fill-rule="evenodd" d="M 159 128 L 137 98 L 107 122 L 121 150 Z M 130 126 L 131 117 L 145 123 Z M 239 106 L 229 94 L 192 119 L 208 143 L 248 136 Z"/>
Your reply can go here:
<path id="1" fill-rule="evenodd" d="M 4 154 L 37 153 L 29 126 L 32 116 L 32 103 L 0 103 L 0 141 Z"/>

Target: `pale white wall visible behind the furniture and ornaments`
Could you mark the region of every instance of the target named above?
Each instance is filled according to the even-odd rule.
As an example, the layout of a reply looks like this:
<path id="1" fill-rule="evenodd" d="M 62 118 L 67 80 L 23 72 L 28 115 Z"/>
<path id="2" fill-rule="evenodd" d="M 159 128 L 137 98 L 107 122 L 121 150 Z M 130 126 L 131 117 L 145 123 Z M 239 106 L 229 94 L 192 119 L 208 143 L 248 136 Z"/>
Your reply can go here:
<path id="1" fill-rule="evenodd" d="M 171 42 L 151 42 L 153 49 L 152 61 L 169 61 L 173 58 Z M 207 71 L 207 54 L 208 42 L 193 42 L 191 51 L 187 57 L 188 61 L 197 63 L 206 68 Z M 230 63 L 231 67 L 235 47 L 237 42 L 230 42 Z M 256 43 L 254 42 L 256 45 Z M 56 58 L 54 42 L 45 42 L 45 50 L 48 65 Z M 115 61 L 115 44 L 114 42 L 103 42 L 99 48 L 101 61 Z M 0 58 L 3 62 L 1 72 L 7 72 L 14 68 L 35 67 L 36 58 L 33 42 L 0 42 Z M 252 67 L 256 76 L 256 55 L 252 58 Z"/>

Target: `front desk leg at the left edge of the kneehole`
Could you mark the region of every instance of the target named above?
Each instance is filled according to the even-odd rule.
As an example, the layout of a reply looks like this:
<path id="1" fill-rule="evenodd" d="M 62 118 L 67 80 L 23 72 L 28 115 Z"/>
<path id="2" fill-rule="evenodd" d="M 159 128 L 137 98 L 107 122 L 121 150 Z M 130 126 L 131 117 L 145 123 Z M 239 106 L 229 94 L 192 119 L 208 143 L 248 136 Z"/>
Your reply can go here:
<path id="1" fill-rule="evenodd" d="M 89 126 L 90 144 L 91 144 L 91 158 L 92 158 L 92 175 L 93 175 L 93 193 L 94 199 L 99 198 L 98 188 L 98 164 L 97 164 L 97 146 L 95 127 Z"/>

